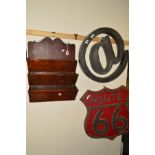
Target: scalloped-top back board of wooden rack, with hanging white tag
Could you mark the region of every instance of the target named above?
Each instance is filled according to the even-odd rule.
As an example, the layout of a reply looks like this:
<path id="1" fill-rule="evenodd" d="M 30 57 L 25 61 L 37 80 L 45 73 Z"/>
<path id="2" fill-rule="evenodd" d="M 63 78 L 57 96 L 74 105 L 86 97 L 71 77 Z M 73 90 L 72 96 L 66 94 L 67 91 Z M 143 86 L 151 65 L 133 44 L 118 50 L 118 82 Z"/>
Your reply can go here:
<path id="1" fill-rule="evenodd" d="M 68 47 L 69 55 L 66 55 Z M 61 39 L 44 38 L 28 42 L 28 57 L 31 59 L 75 60 L 75 45 L 65 44 Z"/>

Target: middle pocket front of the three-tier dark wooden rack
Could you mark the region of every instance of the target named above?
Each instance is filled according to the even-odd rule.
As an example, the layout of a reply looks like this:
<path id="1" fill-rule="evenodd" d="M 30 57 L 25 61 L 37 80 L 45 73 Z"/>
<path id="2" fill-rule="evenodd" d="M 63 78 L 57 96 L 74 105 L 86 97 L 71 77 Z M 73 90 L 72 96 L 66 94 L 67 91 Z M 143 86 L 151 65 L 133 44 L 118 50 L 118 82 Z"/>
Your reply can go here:
<path id="1" fill-rule="evenodd" d="M 74 72 L 30 72 L 28 81 L 30 85 L 69 85 L 75 84 L 78 74 Z"/>

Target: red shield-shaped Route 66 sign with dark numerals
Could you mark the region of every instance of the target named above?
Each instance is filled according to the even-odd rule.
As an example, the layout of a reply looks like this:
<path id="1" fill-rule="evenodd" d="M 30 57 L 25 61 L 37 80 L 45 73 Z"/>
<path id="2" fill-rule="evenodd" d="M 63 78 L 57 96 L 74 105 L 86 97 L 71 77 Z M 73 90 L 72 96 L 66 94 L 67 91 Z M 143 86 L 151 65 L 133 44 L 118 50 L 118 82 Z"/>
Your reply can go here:
<path id="1" fill-rule="evenodd" d="M 129 130 L 129 111 L 127 108 L 128 89 L 104 88 L 99 91 L 87 90 L 81 101 L 87 108 L 85 131 L 92 138 L 114 139 Z"/>

